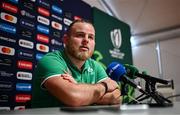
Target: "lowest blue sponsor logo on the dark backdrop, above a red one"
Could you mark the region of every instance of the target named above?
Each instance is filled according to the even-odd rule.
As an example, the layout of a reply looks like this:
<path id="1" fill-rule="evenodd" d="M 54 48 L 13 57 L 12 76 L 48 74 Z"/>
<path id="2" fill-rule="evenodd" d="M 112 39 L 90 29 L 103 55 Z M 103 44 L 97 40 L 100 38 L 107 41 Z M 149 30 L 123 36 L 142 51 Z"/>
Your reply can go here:
<path id="1" fill-rule="evenodd" d="M 29 83 L 17 83 L 16 84 L 17 91 L 31 91 L 31 84 Z"/>

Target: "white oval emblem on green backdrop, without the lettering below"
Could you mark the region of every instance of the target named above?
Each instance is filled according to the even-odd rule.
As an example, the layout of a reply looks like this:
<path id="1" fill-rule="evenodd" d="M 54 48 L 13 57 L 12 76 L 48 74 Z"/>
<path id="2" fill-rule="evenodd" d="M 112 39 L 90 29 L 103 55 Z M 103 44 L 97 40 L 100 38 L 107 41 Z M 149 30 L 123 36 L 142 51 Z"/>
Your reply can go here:
<path id="1" fill-rule="evenodd" d="M 122 43 L 121 30 L 114 29 L 111 31 L 111 42 L 116 49 L 119 49 Z"/>

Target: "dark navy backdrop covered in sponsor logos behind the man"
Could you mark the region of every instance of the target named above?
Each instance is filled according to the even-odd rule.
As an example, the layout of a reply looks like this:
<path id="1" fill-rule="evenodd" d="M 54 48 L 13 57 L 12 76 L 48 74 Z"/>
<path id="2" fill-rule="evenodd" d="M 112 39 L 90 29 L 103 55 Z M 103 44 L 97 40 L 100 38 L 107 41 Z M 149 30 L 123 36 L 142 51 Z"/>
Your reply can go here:
<path id="1" fill-rule="evenodd" d="M 91 20 L 92 9 L 81 0 L 1 0 L 0 5 L 0 109 L 24 109 L 38 60 L 63 48 L 69 24 Z"/>

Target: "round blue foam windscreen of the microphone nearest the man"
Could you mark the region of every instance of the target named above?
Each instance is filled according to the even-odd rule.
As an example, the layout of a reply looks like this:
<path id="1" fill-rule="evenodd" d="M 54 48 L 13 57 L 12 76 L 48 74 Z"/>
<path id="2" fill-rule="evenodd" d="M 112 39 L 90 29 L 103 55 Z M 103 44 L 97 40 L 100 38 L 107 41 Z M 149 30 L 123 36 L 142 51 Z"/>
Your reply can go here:
<path id="1" fill-rule="evenodd" d="M 106 73 L 112 80 L 120 81 L 121 77 L 126 74 L 126 70 L 122 64 L 118 62 L 112 62 L 108 65 Z"/>

